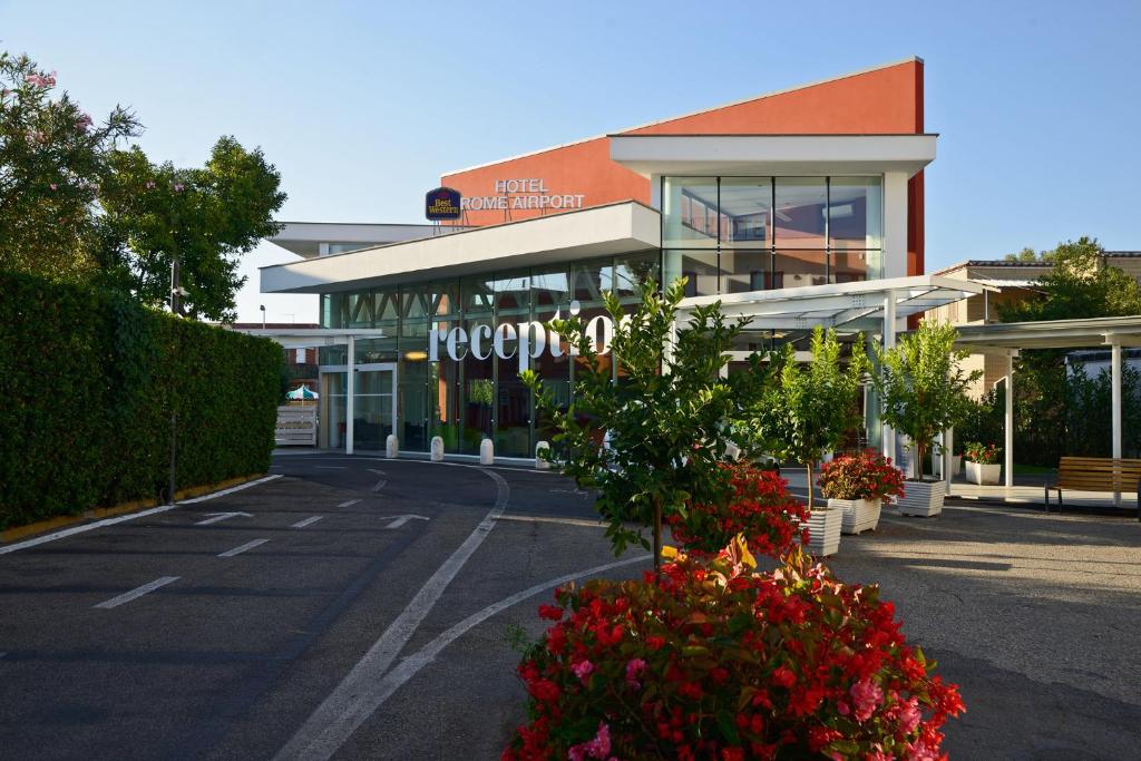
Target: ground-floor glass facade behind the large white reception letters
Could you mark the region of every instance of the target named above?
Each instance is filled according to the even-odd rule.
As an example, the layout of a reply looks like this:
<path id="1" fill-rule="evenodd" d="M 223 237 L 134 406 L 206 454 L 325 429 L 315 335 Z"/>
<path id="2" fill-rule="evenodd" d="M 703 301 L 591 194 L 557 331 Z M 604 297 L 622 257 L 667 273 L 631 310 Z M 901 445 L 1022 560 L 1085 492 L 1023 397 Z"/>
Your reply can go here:
<path id="1" fill-rule="evenodd" d="M 447 452 L 478 454 L 480 442 L 491 438 L 499 456 L 533 456 L 535 443 L 550 440 L 551 431 L 548 421 L 536 420 L 534 398 L 519 380 L 517 326 L 549 321 L 556 311 L 567 316 L 572 301 L 580 316 L 590 318 L 602 311 L 605 291 L 631 303 L 648 278 L 662 280 L 659 251 L 323 294 L 322 327 L 377 329 L 383 334 L 356 342 L 354 446 L 381 450 L 383 437 L 395 430 L 406 451 L 426 452 L 431 438 L 440 436 Z M 444 335 L 454 327 L 463 330 L 456 351 L 461 358 L 452 359 L 442 346 L 438 361 L 431 362 L 430 329 Z M 492 350 L 496 337 L 510 359 Z M 531 362 L 564 404 L 570 399 L 573 359 L 564 342 Z M 324 446 L 345 445 L 346 362 L 345 347 L 321 350 L 326 405 L 322 418 L 329 421 Z M 394 389 L 395 421 L 388 412 Z"/>

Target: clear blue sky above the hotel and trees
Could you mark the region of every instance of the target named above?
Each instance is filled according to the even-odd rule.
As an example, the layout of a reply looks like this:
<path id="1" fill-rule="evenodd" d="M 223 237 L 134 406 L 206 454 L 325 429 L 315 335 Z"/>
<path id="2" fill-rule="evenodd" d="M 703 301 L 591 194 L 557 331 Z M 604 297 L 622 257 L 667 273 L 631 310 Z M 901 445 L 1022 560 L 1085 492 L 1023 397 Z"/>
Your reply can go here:
<path id="1" fill-rule="evenodd" d="M 154 160 L 222 133 L 282 172 L 281 217 L 420 221 L 452 169 L 917 55 L 928 269 L 1094 235 L 1141 249 L 1141 2 L 46 2 L 0 0 L 92 115 Z M 261 297 L 240 318 L 316 317 Z"/>

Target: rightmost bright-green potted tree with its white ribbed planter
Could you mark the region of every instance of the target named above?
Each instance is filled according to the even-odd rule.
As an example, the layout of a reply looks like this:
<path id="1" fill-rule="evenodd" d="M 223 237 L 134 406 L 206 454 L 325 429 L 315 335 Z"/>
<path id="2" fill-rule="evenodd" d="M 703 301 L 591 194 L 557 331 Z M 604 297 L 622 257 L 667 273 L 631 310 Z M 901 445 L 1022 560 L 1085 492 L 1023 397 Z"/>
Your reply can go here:
<path id="1" fill-rule="evenodd" d="M 946 481 L 926 480 L 923 463 L 934 437 L 962 420 L 970 408 L 966 389 L 982 373 L 968 373 L 965 351 L 955 350 L 958 332 L 949 324 L 924 319 L 917 330 L 884 349 L 875 345 L 882 372 L 872 375 L 887 426 L 911 439 L 916 476 L 907 481 L 896 504 L 905 516 L 937 516 L 942 511 Z"/>

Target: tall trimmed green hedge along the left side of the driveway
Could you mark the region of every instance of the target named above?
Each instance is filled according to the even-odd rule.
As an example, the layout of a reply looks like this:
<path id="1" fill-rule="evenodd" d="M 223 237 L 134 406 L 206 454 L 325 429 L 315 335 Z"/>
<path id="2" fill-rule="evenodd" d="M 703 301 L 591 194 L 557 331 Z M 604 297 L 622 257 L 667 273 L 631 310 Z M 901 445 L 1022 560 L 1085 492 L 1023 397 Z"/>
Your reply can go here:
<path id="1" fill-rule="evenodd" d="M 87 286 L 0 274 L 0 528 L 265 472 L 284 355 Z"/>

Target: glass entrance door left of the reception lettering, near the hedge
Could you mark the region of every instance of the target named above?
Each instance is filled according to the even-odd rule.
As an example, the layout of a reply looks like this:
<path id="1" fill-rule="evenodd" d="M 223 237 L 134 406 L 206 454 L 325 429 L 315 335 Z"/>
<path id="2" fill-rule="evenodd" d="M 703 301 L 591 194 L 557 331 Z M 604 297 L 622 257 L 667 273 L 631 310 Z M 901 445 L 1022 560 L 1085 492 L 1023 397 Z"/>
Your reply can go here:
<path id="1" fill-rule="evenodd" d="M 322 444 L 343 450 L 348 435 L 346 366 L 322 367 Z M 381 451 L 396 429 L 396 365 L 357 365 L 353 394 L 353 450 Z"/>

